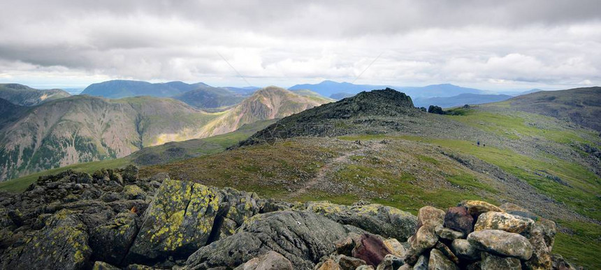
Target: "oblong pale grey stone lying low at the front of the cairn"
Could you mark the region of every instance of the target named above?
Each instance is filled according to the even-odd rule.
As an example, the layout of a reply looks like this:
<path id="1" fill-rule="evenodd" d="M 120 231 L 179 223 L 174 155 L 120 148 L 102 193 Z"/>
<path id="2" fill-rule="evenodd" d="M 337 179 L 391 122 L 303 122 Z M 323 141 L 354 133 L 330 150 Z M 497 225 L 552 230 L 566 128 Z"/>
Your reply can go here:
<path id="1" fill-rule="evenodd" d="M 532 257 L 532 244 L 513 232 L 502 230 L 481 230 L 468 235 L 470 244 L 489 253 L 517 257 L 520 260 L 529 260 Z"/>

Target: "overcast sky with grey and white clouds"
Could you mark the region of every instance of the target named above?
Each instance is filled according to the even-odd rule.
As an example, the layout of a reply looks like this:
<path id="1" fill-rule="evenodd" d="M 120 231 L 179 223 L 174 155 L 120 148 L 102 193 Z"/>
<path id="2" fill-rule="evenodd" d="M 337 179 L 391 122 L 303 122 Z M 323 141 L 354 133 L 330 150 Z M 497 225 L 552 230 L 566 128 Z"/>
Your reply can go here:
<path id="1" fill-rule="evenodd" d="M 0 82 L 41 88 L 247 86 L 233 68 L 253 86 L 601 84 L 598 0 L 2 0 L 0 10 Z"/>

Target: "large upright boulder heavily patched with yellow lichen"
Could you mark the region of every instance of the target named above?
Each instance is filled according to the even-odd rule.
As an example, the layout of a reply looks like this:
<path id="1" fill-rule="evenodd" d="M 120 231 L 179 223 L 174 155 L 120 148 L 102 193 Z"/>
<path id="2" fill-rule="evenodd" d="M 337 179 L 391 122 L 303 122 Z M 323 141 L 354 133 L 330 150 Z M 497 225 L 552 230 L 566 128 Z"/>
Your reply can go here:
<path id="1" fill-rule="evenodd" d="M 128 260 L 152 262 L 194 253 L 209 240 L 221 200 L 217 190 L 199 183 L 164 181 L 145 212 Z"/>

